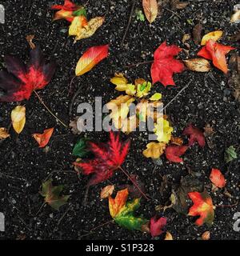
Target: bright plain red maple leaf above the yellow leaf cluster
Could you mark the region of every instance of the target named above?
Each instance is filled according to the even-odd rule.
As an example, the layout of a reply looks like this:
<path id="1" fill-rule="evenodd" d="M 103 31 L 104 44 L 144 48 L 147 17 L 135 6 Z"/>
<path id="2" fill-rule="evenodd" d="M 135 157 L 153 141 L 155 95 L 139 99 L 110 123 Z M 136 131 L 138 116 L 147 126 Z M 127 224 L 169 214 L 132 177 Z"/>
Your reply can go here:
<path id="1" fill-rule="evenodd" d="M 184 65 L 174 58 L 182 49 L 178 46 L 166 46 L 163 42 L 154 52 L 154 63 L 151 66 L 153 83 L 162 82 L 163 86 L 174 86 L 174 73 L 181 73 Z"/>

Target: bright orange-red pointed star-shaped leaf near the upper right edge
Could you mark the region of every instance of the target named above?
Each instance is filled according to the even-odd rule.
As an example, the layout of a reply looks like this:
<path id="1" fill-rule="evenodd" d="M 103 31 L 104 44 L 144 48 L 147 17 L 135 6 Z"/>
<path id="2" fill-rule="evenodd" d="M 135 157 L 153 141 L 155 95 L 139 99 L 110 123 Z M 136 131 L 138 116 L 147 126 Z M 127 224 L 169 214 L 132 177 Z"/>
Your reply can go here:
<path id="1" fill-rule="evenodd" d="M 224 46 L 210 39 L 206 42 L 206 46 L 202 47 L 202 49 L 198 52 L 198 56 L 212 60 L 214 66 L 226 74 L 228 70 L 225 55 L 228 54 L 230 50 L 234 49 L 234 47 Z"/>

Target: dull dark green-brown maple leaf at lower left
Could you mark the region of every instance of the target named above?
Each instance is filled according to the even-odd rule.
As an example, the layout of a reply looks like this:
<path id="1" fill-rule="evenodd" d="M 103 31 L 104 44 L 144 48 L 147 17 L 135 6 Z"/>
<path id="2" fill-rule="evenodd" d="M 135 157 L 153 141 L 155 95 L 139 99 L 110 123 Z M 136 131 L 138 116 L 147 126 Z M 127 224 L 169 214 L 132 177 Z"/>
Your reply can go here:
<path id="1" fill-rule="evenodd" d="M 59 210 L 59 208 L 66 204 L 70 195 L 60 196 L 62 193 L 63 186 L 53 186 L 52 179 L 47 180 L 42 183 L 42 190 L 39 194 L 44 197 L 46 203 L 48 203 L 54 210 Z"/>

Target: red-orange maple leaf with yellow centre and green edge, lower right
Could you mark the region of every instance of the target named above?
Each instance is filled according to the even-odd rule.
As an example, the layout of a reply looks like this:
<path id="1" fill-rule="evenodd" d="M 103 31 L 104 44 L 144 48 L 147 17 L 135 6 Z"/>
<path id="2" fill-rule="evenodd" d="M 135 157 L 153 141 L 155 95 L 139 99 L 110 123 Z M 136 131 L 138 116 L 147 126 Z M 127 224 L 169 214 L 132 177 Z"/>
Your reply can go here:
<path id="1" fill-rule="evenodd" d="M 202 193 L 190 192 L 188 195 L 194 202 L 194 205 L 190 207 L 188 215 L 200 216 L 195 224 L 198 226 L 202 226 L 204 223 L 208 226 L 212 225 L 214 222 L 214 205 L 210 195 L 206 191 Z"/>

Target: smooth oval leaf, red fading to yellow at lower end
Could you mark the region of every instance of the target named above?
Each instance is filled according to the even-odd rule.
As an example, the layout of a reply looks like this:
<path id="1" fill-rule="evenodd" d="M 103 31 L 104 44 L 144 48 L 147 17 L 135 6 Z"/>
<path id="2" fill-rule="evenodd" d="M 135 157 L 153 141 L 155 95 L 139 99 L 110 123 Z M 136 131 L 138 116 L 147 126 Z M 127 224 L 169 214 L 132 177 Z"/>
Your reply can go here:
<path id="1" fill-rule="evenodd" d="M 76 76 L 80 76 L 90 71 L 94 66 L 108 56 L 108 45 L 90 47 L 79 59 L 76 66 Z"/>

